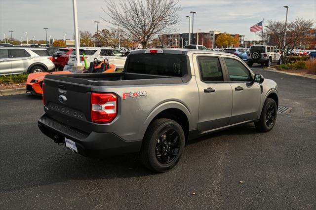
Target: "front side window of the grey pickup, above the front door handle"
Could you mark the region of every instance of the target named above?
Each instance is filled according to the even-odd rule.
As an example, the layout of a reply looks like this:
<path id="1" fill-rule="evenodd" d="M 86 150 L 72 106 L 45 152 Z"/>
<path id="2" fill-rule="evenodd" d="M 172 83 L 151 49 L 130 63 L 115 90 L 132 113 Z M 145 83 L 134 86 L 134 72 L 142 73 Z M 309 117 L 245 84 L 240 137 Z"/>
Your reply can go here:
<path id="1" fill-rule="evenodd" d="M 250 72 L 239 61 L 225 58 L 225 63 L 231 81 L 251 81 Z"/>

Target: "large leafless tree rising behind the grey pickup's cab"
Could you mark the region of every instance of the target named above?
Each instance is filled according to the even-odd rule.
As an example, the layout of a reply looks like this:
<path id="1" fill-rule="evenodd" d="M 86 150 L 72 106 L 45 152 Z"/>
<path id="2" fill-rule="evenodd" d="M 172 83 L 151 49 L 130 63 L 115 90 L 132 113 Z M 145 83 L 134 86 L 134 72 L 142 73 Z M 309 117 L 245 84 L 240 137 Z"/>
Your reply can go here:
<path id="1" fill-rule="evenodd" d="M 103 11 L 111 20 L 103 20 L 129 33 L 143 48 L 155 35 L 174 32 L 180 22 L 179 0 L 105 1 L 108 6 Z"/>

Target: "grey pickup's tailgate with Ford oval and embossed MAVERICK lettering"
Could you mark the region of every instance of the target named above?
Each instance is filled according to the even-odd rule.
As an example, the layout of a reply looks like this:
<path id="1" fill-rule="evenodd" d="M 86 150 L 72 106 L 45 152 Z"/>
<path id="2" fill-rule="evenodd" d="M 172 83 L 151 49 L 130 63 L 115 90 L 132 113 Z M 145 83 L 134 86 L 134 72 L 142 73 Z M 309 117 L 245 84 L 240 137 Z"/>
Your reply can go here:
<path id="1" fill-rule="evenodd" d="M 91 132 L 91 81 L 60 75 L 44 78 L 45 112 L 66 125 Z"/>

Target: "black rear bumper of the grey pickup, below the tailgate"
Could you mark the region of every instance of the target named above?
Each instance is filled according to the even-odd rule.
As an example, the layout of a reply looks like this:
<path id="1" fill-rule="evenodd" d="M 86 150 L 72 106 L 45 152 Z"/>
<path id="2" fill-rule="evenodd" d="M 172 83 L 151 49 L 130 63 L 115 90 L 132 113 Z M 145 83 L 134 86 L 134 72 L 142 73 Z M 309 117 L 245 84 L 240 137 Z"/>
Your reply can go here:
<path id="1" fill-rule="evenodd" d="M 141 140 L 125 141 L 114 133 L 85 133 L 76 128 L 65 125 L 43 114 L 38 126 L 40 131 L 55 141 L 65 143 L 67 139 L 76 142 L 78 153 L 83 156 L 108 156 L 140 151 Z"/>

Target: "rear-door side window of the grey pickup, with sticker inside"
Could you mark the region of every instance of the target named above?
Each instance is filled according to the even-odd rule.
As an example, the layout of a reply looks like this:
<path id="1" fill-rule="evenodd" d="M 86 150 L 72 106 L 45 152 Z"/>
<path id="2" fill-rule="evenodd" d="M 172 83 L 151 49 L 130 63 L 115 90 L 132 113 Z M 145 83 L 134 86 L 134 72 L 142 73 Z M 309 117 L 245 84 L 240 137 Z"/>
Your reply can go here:
<path id="1" fill-rule="evenodd" d="M 198 67 L 202 81 L 224 81 L 221 65 L 216 57 L 198 57 Z"/>

